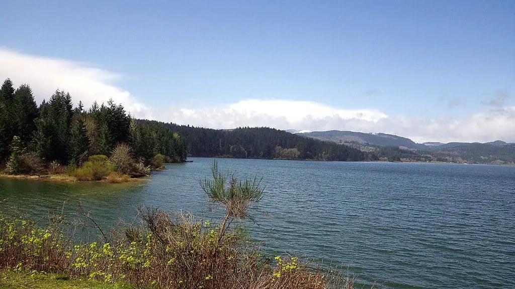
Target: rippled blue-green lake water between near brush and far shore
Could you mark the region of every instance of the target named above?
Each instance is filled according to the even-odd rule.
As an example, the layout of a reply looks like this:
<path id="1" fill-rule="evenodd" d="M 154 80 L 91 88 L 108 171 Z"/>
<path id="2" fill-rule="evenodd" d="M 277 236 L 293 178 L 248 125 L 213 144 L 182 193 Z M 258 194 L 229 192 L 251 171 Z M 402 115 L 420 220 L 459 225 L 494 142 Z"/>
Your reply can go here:
<path id="1" fill-rule="evenodd" d="M 199 179 L 212 159 L 167 165 L 141 184 L 0 178 L 3 213 L 43 218 L 79 204 L 109 226 L 138 205 L 216 215 Z M 222 159 L 266 186 L 249 224 L 270 254 L 289 252 L 391 288 L 515 288 L 515 167 Z M 63 206 L 64 204 L 64 206 Z M 132 219 L 131 219 L 132 218 Z"/>

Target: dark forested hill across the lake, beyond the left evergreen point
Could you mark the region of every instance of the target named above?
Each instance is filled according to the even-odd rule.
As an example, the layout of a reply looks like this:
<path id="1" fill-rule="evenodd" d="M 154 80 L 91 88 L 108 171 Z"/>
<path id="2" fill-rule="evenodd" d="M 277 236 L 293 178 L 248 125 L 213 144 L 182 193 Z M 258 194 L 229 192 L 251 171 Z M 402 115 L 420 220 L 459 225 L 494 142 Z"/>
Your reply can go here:
<path id="1" fill-rule="evenodd" d="M 345 145 L 321 141 L 271 128 L 214 130 L 138 120 L 141 124 L 159 124 L 182 135 L 190 156 L 279 158 L 359 161 L 374 156 Z"/>

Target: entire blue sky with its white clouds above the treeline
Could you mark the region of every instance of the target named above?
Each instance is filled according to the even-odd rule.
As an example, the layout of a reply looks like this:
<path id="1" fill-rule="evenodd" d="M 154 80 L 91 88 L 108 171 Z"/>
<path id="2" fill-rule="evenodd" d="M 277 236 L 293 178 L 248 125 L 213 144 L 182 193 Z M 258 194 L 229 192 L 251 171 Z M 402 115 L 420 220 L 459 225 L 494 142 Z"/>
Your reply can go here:
<path id="1" fill-rule="evenodd" d="M 0 79 L 215 129 L 515 141 L 515 1 L 14 1 Z"/>

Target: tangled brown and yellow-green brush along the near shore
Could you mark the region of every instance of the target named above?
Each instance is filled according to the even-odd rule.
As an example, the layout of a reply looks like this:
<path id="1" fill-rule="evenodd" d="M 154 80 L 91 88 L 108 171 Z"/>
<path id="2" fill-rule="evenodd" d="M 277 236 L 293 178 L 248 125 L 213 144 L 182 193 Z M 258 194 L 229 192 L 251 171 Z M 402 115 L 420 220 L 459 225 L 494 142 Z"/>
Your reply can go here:
<path id="1" fill-rule="evenodd" d="M 155 209 L 140 214 L 145 227 L 121 228 L 122 237 L 110 242 L 75 246 L 68 245 L 57 225 L 38 227 L 30 220 L 0 217 L 0 272 L 36 279 L 59 273 L 72 280 L 89 280 L 84 284 L 118 282 L 154 288 L 321 289 L 329 285 L 323 275 L 302 268 L 295 257 L 276 257 L 275 265 L 261 262 L 259 247 L 243 242 L 231 230 L 220 240 L 221 224 L 197 222 L 190 214 L 173 218 Z M 338 285 L 342 284 L 352 288 L 348 282 Z"/>

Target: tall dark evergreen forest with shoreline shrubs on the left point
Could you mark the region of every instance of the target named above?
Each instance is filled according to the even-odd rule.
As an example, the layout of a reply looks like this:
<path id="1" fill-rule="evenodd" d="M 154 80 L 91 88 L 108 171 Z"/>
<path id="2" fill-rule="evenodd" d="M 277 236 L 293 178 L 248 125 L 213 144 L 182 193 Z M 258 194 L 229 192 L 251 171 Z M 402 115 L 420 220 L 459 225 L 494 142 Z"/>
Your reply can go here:
<path id="1" fill-rule="evenodd" d="M 49 166 L 78 168 L 95 155 L 109 157 L 116 167 L 121 159 L 130 158 L 138 169 L 151 165 L 156 155 L 160 162 L 183 161 L 186 145 L 167 127 L 134 121 L 112 100 L 100 105 L 95 102 L 85 110 L 82 102 L 74 106 L 69 93 L 57 90 L 38 106 L 29 85 L 15 89 L 10 79 L 4 81 L 0 89 L 0 169 L 39 173 Z M 131 169 L 121 171 L 130 173 Z"/>

